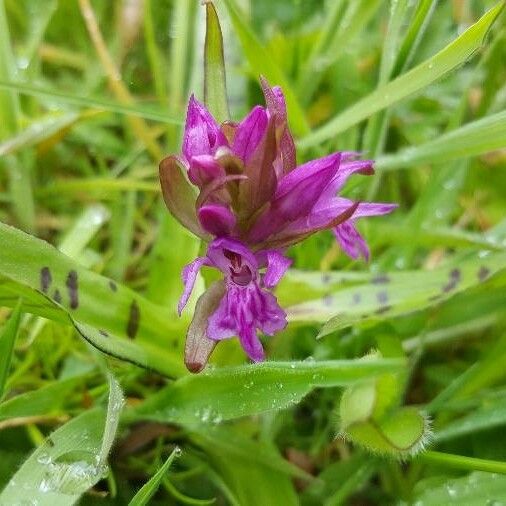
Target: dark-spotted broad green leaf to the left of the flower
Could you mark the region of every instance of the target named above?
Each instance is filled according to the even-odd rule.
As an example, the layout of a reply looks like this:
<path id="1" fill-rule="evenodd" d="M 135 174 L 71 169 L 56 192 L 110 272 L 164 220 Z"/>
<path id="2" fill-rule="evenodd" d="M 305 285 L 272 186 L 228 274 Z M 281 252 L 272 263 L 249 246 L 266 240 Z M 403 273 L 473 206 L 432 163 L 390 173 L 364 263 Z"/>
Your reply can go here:
<path id="1" fill-rule="evenodd" d="M 15 228 L 0 224 L 0 239 L 8 245 L 0 250 L 0 275 L 11 281 L 0 295 L 28 293 L 26 310 L 67 320 L 99 350 L 168 376 L 183 374 L 181 358 L 167 347 L 181 328 L 164 308 Z M 0 300 L 8 304 L 12 297 Z"/>

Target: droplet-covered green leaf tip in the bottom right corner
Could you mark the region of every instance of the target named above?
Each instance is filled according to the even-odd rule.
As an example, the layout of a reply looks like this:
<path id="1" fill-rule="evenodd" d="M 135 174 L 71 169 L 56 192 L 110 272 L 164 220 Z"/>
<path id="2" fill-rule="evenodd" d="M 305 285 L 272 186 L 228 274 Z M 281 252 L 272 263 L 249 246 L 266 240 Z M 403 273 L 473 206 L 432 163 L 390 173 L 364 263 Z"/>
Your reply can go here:
<path id="1" fill-rule="evenodd" d="M 462 478 L 445 480 L 437 486 L 432 482 L 415 494 L 411 504 L 419 506 L 484 506 L 506 502 L 506 476 L 475 472 Z"/>

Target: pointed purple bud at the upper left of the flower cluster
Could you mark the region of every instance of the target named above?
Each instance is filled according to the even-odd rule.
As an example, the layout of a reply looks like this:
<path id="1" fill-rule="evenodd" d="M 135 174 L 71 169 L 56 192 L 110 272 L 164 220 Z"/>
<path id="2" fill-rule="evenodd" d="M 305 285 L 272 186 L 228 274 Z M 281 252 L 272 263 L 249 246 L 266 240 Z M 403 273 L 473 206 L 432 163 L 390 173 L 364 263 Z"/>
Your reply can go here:
<path id="1" fill-rule="evenodd" d="M 192 95 L 188 103 L 183 134 L 183 155 L 187 160 L 194 156 L 214 154 L 227 140 L 211 113 Z"/>

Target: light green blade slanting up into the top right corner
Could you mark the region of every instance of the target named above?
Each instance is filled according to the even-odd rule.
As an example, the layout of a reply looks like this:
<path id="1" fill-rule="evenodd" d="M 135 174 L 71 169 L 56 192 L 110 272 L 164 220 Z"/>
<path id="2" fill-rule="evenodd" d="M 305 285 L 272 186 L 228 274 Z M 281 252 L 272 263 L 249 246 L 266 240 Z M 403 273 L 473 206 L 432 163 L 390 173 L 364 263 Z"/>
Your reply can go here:
<path id="1" fill-rule="evenodd" d="M 377 88 L 370 95 L 302 138 L 298 143 L 299 147 L 306 149 L 344 132 L 375 112 L 422 90 L 461 65 L 483 44 L 488 30 L 503 7 L 503 2 L 499 2 L 439 53 L 409 72 Z"/>

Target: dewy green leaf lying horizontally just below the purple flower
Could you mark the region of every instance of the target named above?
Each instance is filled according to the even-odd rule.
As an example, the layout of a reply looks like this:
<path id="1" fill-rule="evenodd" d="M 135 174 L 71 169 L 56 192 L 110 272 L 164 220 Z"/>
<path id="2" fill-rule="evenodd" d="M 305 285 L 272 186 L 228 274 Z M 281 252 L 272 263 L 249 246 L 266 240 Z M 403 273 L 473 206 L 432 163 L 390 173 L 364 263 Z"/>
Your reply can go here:
<path id="1" fill-rule="evenodd" d="M 403 367 L 404 361 L 397 359 L 264 362 L 221 367 L 168 385 L 127 413 L 126 419 L 217 424 L 293 406 L 316 387 L 346 386 L 387 371 L 401 371 Z"/>

